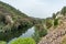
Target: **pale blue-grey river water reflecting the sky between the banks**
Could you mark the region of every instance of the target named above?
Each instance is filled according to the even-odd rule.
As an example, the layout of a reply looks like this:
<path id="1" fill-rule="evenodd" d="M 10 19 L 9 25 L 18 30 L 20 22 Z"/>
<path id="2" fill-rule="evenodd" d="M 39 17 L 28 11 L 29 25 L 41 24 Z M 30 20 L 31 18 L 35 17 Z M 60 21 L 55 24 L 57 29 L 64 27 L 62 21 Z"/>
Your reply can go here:
<path id="1" fill-rule="evenodd" d="M 34 26 L 32 26 L 31 29 L 29 29 L 28 31 L 25 31 L 25 33 L 22 33 L 22 35 L 20 35 L 19 37 L 31 37 L 34 34 L 35 30 Z M 15 40 L 16 37 L 12 38 L 11 41 Z M 10 42 L 8 44 L 10 44 Z"/>

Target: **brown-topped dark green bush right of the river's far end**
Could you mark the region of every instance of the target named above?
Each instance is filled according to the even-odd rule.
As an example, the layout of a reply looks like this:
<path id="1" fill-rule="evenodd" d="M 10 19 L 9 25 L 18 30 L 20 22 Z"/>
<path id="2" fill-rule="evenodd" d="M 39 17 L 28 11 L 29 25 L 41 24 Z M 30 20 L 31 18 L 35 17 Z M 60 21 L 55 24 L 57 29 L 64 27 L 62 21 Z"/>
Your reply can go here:
<path id="1" fill-rule="evenodd" d="M 45 36 L 47 34 L 47 30 L 44 29 L 43 24 L 35 25 L 35 30 L 38 32 L 40 37 Z"/>

